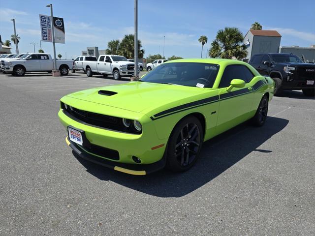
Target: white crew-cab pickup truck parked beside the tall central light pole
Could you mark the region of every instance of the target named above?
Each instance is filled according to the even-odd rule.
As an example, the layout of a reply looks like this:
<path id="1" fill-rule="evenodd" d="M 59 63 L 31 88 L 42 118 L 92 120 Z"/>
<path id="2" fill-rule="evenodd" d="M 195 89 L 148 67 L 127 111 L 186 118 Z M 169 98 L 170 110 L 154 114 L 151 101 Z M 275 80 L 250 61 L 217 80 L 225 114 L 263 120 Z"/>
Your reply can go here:
<path id="1" fill-rule="evenodd" d="M 86 61 L 85 71 L 88 77 L 92 77 L 93 74 L 102 74 L 104 77 L 113 75 L 115 80 L 120 80 L 122 76 L 134 75 L 134 62 L 123 56 L 100 55 L 97 61 Z"/>

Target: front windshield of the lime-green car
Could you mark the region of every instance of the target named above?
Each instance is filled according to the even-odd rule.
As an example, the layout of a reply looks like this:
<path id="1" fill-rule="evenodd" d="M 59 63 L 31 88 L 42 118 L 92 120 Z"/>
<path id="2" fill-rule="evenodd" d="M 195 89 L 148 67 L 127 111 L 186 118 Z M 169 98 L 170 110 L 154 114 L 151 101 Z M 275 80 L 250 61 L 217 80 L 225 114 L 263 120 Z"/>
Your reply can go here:
<path id="1" fill-rule="evenodd" d="M 212 88 L 218 71 L 218 64 L 196 62 L 172 62 L 161 64 L 146 74 L 140 81 Z"/>

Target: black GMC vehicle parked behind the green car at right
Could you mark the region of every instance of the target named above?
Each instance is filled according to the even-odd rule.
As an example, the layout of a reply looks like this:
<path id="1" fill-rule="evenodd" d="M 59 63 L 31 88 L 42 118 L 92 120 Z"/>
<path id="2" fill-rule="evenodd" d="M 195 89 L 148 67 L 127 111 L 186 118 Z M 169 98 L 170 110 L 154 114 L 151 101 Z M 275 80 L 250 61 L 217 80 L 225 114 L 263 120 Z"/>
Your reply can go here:
<path id="1" fill-rule="evenodd" d="M 255 54 L 249 63 L 261 75 L 269 75 L 275 81 L 275 95 L 284 89 L 302 89 L 305 96 L 315 95 L 315 64 L 283 53 Z"/>

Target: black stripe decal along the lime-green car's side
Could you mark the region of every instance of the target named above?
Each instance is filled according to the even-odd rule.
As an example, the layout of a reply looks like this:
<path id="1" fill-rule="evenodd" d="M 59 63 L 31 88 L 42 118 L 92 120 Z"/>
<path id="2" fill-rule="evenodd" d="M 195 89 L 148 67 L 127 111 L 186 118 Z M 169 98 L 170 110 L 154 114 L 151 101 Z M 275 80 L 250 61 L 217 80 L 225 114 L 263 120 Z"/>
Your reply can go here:
<path id="1" fill-rule="evenodd" d="M 155 119 L 163 118 L 163 117 L 170 116 L 170 115 L 173 115 L 173 114 L 178 113 L 178 112 L 183 112 L 183 111 L 186 111 L 186 110 L 189 110 L 192 108 L 196 108 L 196 107 L 204 106 L 204 105 L 207 105 L 210 103 L 218 102 L 220 100 L 225 100 L 228 98 L 232 98 L 232 97 L 244 95 L 247 93 L 251 93 L 253 91 L 260 89 L 264 85 L 265 85 L 265 83 L 263 81 L 259 80 L 256 84 L 254 84 L 252 86 L 252 90 L 249 90 L 248 88 L 240 89 L 237 91 L 221 94 L 220 98 L 219 98 L 219 95 L 215 95 L 213 97 L 201 99 L 201 100 L 194 101 L 194 102 L 189 102 L 187 104 L 183 104 L 181 106 L 173 107 L 173 108 L 167 109 L 165 111 L 162 111 L 162 112 L 154 115 L 153 117 L 151 117 L 151 119 L 155 120 Z"/>

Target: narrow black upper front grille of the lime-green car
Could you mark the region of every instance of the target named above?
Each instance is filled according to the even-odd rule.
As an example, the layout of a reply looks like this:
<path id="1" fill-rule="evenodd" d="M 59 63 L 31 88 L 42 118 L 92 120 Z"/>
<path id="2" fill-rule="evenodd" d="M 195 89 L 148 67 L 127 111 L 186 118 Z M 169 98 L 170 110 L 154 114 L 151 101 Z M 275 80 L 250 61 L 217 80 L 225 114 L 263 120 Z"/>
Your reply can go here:
<path id="1" fill-rule="evenodd" d="M 70 106 L 67 106 L 66 109 L 63 102 L 61 102 L 61 108 L 63 109 L 63 112 L 66 116 L 78 120 L 79 122 L 83 121 L 88 125 L 93 125 L 111 130 L 117 130 L 131 134 L 141 134 L 142 132 L 142 131 L 138 132 L 133 127 L 126 128 L 123 125 L 122 118 L 102 115 L 93 112 L 87 112 L 74 107 L 70 108 Z"/>

